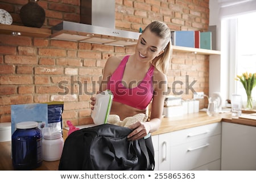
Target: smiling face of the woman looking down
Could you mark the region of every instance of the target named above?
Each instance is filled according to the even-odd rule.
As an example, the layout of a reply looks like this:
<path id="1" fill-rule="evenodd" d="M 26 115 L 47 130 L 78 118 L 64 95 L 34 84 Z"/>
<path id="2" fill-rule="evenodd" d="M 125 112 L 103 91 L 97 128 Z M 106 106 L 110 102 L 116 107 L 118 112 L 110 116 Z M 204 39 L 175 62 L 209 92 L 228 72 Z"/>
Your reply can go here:
<path id="1" fill-rule="evenodd" d="M 151 61 L 164 52 L 164 40 L 156 36 L 149 29 L 139 36 L 135 56 L 138 60 Z"/>

